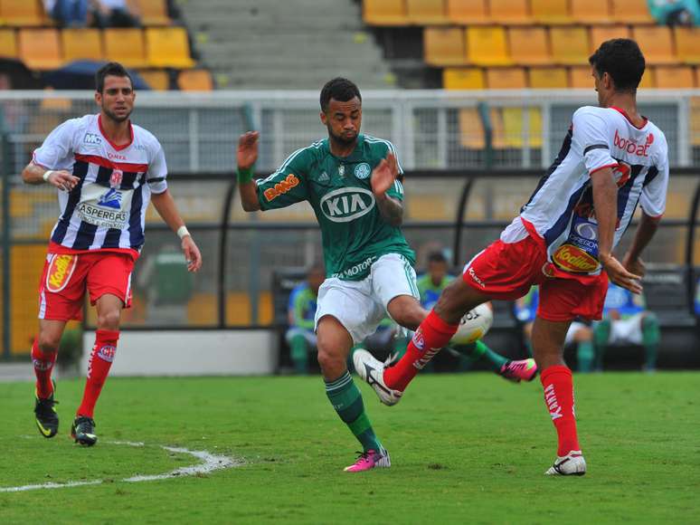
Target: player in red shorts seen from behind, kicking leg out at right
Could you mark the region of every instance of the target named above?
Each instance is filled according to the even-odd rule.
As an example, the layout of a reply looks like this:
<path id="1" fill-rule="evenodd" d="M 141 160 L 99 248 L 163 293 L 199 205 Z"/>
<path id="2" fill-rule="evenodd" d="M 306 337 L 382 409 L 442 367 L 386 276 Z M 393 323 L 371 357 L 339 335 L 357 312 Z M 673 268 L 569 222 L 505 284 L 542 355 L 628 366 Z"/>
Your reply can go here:
<path id="1" fill-rule="evenodd" d="M 563 361 L 567 329 L 577 316 L 601 319 L 609 277 L 629 291 L 641 291 L 639 255 L 664 213 L 668 184 L 666 138 L 637 110 L 645 69 L 639 46 L 628 39 L 610 40 L 590 62 L 600 107 L 574 112 L 559 156 L 520 215 L 440 295 L 403 358 L 374 377 L 401 395 L 418 371 L 414 364 L 425 361 L 423 348 L 442 348 L 466 311 L 491 299 L 516 300 L 539 284 L 532 338 L 559 440 L 557 458 L 545 472 L 553 475 L 586 472 L 572 373 Z M 613 250 L 638 204 L 639 228 L 620 263 Z"/>

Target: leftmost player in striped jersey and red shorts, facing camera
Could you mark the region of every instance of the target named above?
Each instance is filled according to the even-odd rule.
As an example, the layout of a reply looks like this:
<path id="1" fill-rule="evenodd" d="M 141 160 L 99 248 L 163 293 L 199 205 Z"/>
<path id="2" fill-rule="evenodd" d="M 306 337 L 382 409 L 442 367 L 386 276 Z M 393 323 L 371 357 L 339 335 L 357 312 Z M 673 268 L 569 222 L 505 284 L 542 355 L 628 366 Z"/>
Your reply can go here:
<path id="1" fill-rule="evenodd" d="M 82 402 L 71 426 L 76 442 L 97 442 L 93 412 L 117 351 L 119 318 L 131 305 L 131 272 L 144 243 L 148 203 L 182 240 L 190 272 L 199 249 L 167 189 L 158 140 L 132 125 L 136 93 L 128 72 L 109 62 L 96 74 L 99 114 L 54 129 L 24 168 L 26 184 L 57 188 L 61 215 L 53 227 L 39 290 L 39 334 L 32 347 L 34 414 L 45 437 L 58 432 L 51 379 L 61 335 L 80 320 L 85 291 L 97 309 L 97 332 Z"/>

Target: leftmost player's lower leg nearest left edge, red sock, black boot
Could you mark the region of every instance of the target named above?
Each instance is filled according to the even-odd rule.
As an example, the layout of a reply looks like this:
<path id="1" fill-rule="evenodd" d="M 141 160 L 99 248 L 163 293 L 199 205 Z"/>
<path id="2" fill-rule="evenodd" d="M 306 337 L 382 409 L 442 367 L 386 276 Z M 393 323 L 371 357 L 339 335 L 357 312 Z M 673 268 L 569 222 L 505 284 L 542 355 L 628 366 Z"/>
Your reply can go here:
<path id="1" fill-rule="evenodd" d="M 59 417 L 53 407 L 56 401 L 51 375 L 65 326 L 64 320 L 39 320 L 39 335 L 32 345 L 32 365 L 36 375 L 34 416 L 44 437 L 58 433 Z"/>

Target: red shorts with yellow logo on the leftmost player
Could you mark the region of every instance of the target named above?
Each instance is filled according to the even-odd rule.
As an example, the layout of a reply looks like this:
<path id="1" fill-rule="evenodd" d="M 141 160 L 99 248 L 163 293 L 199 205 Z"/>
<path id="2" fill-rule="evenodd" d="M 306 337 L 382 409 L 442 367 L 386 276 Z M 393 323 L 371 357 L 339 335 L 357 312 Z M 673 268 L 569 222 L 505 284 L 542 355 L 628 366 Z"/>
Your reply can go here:
<path id="1" fill-rule="evenodd" d="M 82 320 L 85 290 L 93 306 L 106 293 L 131 306 L 131 272 L 128 253 L 47 253 L 39 282 L 39 319 Z"/>

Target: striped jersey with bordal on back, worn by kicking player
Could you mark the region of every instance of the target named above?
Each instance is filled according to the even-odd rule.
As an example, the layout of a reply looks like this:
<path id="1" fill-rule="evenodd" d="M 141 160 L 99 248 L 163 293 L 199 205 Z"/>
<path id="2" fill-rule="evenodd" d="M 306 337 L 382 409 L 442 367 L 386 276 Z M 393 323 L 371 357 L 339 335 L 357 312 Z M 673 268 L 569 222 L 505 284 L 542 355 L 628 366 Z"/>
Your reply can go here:
<path id="1" fill-rule="evenodd" d="M 617 108 L 584 106 L 574 112 L 559 155 L 501 239 L 512 243 L 529 230 L 544 238 L 548 259 L 559 270 L 599 274 L 591 174 L 606 167 L 612 169 L 618 186 L 613 248 L 638 204 L 647 215 L 664 214 L 668 186 L 664 133 L 648 119 L 637 128 Z"/>

